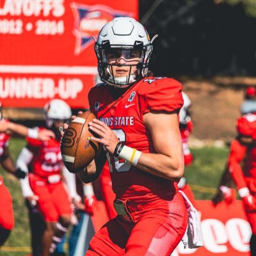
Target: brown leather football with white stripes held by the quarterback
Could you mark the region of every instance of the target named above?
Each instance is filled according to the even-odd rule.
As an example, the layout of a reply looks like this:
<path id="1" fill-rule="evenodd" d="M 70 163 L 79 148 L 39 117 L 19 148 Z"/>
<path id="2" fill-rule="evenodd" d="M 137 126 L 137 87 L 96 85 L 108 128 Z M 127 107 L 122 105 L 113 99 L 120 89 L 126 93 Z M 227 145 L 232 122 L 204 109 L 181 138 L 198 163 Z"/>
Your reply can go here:
<path id="1" fill-rule="evenodd" d="M 76 116 L 68 125 L 61 139 L 61 156 L 69 172 L 81 172 L 92 162 L 99 151 L 99 143 L 90 140 L 95 136 L 88 129 L 88 123 L 96 118 L 86 111 Z"/>

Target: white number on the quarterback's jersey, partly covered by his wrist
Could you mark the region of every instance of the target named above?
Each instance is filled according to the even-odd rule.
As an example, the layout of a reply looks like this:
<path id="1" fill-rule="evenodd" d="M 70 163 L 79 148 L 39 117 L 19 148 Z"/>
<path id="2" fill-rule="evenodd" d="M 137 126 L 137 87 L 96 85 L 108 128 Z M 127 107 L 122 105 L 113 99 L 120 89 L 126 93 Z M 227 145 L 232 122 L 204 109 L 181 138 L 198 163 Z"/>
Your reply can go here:
<path id="1" fill-rule="evenodd" d="M 120 142 L 126 141 L 125 132 L 122 129 L 113 129 L 112 131 L 115 132 Z M 118 157 L 110 155 L 109 152 L 107 152 L 106 155 L 108 158 L 110 172 L 113 172 L 113 170 L 115 170 L 116 172 L 128 172 L 130 170 L 131 164 L 126 163 L 122 159 L 118 159 Z"/>

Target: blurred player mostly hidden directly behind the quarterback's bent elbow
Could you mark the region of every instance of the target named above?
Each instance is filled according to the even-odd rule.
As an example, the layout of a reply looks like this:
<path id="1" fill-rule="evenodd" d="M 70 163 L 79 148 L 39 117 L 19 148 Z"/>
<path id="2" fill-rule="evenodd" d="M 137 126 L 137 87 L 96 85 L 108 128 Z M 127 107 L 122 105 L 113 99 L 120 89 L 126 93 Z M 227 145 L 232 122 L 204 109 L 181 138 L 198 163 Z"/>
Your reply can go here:
<path id="1" fill-rule="evenodd" d="M 189 112 L 189 108 L 191 107 L 191 100 L 189 99 L 188 95 L 184 92 L 182 92 L 182 97 L 184 100 L 184 104 L 180 109 L 179 127 L 183 145 L 184 164 L 185 166 L 188 167 L 191 165 L 191 163 L 193 163 L 194 160 L 193 154 L 191 153 L 188 145 L 189 134 L 193 130 L 193 122 L 191 120 L 191 115 Z M 186 177 L 181 177 L 178 183 L 178 187 L 181 191 L 183 191 L 186 194 L 186 196 L 188 196 L 190 202 L 195 206 L 195 197 L 190 186 L 186 182 Z"/>

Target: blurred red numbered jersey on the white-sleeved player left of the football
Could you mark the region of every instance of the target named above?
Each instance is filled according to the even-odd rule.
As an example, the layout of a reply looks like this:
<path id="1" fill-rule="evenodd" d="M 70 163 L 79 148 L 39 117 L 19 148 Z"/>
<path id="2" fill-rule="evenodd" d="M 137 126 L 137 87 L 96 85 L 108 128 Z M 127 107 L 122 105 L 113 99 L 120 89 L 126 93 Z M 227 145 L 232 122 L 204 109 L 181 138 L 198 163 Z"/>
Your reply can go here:
<path id="1" fill-rule="evenodd" d="M 59 174 L 63 167 L 60 152 L 60 141 L 51 139 L 40 141 L 27 138 L 28 147 L 33 152 L 33 159 L 30 164 L 31 172 L 48 177 L 49 175 Z"/>

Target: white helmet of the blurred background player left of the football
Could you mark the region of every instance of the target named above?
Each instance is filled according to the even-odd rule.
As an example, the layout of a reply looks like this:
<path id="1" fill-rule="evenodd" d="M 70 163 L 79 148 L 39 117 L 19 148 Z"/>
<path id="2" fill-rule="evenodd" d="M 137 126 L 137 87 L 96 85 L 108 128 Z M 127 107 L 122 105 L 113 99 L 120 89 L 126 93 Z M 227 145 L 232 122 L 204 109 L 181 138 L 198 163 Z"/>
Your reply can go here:
<path id="1" fill-rule="evenodd" d="M 51 128 L 54 121 L 68 121 L 71 118 L 72 112 L 70 106 L 65 101 L 54 99 L 45 104 L 44 115 L 47 127 Z"/>

